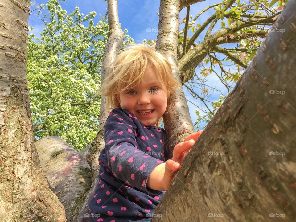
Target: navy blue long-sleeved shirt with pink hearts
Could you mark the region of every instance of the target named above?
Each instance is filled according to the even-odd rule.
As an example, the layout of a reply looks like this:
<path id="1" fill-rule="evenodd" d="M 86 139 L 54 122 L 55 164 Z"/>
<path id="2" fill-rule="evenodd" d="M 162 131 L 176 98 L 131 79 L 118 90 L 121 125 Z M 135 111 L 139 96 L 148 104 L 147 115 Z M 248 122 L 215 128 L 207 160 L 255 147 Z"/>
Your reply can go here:
<path id="1" fill-rule="evenodd" d="M 145 127 L 128 110 L 117 107 L 106 120 L 104 139 L 89 221 L 151 221 L 165 191 L 146 184 L 154 168 L 167 160 L 164 129 Z"/>

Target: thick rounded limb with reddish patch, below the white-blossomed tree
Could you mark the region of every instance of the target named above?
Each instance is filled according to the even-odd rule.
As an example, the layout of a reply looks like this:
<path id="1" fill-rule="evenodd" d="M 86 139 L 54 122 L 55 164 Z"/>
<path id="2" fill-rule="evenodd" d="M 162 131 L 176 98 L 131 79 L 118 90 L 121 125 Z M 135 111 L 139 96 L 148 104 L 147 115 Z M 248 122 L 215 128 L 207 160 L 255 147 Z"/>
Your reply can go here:
<path id="1" fill-rule="evenodd" d="M 67 221 L 84 204 L 92 185 L 91 170 L 85 156 L 62 138 L 48 136 L 36 142 L 39 160 L 51 190 L 64 205 Z"/>

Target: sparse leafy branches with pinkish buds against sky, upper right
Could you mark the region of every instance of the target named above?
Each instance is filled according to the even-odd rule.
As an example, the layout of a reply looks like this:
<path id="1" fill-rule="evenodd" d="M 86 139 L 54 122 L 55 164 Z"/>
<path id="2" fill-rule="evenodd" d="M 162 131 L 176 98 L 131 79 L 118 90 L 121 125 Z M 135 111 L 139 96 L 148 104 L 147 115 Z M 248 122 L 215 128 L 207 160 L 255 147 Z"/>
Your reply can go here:
<path id="1" fill-rule="evenodd" d="M 253 60 L 259 47 L 265 40 L 271 29 L 271 25 L 276 20 L 278 14 L 285 6 L 287 0 L 251 0 L 243 2 L 240 0 L 224 0 L 221 3 L 213 4 L 194 15 L 186 14 L 182 23 L 186 22 L 186 17 L 189 16 L 187 29 L 185 24 L 180 26 L 178 40 L 178 64 L 179 61 L 189 55 L 192 50 L 202 45 L 207 47 L 210 45 L 209 36 L 215 35 L 220 30 L 229 28 L 233 24 L 242 23 L 233 31 L 228 31 L 227 34 L 221 36 L 221 43 L 217 43 L 215 47 L 206 48 L 208 54 L 199 58 L 202 61 L 196 65 L 196 70 L 199 70 L 199 75 L 194 73 L 191 80 L 184 83 L 184 86 L 191 93 L 192 97 L 204 103 L 205 109 L 197 106 L 200 110 L 195 113 L 198 121 L 208 123 L 216 113 L 216 108 L 220 106 L 233 86 L 241 79 L 242 73 L 247 65 Z M 277 4 L 278 6 L 276 6 Z M 201 15 L 205 12 L 210 12 L 209 17 L 201 19 Z M 268 19 L 266 19 L 268 18 Z M 255 20 L 254 20 L 255 19 Z M 256 20 L 257 19 L 257 20 Z M 186 45 L 184 45 L 184 33 L 186 35 Z M 155 40 L 144 40 L 151 47 L 155 47 Z M 220 46 L 218 46 L 221 44 Z M 196 52 L 198 55 L 199 52 Z M 191 61 L 194 61 L 193 56 Z M 188 64 L 188 62 L 187 62 Z M 193 62 L 194 64 L 194 62 Z M 192 65 L 192 63 L 191 63 Z M 190 65 L 188 65 L 190 67 Z M 229 68 L 226 68 L 229 67 Z M 180 67 L 183 69 L 183 67 Z M 221 72 L 220 74 L 218 72 Z M 212 90 L 216 90 L 216 86 L 208 85 L 207 81 L 211 75 L 216 75 L 224 85 L 228 92 L 220 96 L 219 101 L 211 101 Z M 213 78 L 213 76 L 212 76 Z M 216 90 L 218 91 L 218 90 Z M 208 107 L 211 104 L 214 109 Z M 202 113 L 202 114 L 201 114 Z M 198 128 L 199 129 L 199 128 Z"/>

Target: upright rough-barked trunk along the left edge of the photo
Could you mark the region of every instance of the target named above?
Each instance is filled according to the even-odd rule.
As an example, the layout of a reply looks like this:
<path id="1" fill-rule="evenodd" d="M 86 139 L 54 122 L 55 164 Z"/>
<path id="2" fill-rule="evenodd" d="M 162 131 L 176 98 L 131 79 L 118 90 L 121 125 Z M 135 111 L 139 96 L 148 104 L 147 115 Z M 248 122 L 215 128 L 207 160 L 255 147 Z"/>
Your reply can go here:
<path id="1" fill-rule="evenodd" d="M 34 143 L 26 79 L 29 6 L 29 0 L 0 4 L 0 218 L 66 221 Z"/>

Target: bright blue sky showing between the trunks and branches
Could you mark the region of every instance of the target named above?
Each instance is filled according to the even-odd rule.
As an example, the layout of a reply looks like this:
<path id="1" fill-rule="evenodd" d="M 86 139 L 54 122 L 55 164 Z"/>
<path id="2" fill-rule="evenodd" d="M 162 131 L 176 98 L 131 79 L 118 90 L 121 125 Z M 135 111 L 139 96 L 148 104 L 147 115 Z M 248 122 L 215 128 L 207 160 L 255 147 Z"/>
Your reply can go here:
<path id="1" fill-rule="evenodd" d="M 35 3 L 34 6 L 31 6 L 31 10 L 35 8 L 36 5 L 39 5 L 41 3 L 45 4 L 47 1 L 40 1 L 40 0 L 32 0 L 32 2 Z M 217 0 L 211 0 L 211 1 L 204 1 L 199 2 L 190 7 L 190 15 L 195 17 L 196 14 L 198 14 L 201 10 L 203 10 L 205 7 L 212 5 L 214 3 L 221 2 Z M 118 15 L 119 15 L 119 21 L 121 23 L 122 29 L 128 30 L 128 35 L 130 35 L 135 43 L 141 43 L 143 39 L 152 40 L 156 39 L 157 37 L 157 29 L 158 29 L 158 10 L 159 10 L 159 3 L 160 0 L 151 0 L 151 1 L 140 1 L 140 0 L 118 0 Z M 107 2 L 103 0 L 84 0 L 84 1 L 78 1 L 78 0 L 67 0 L 65 2 L 60 2 L 60 5 L 62 6 L 62 9 L 66 10 L 68 13 L 71 13 L 75 10 L 75 7 L 78 6 L 80 9 L 80 13 L 83 13 L 84 15 L 89 14 L 91 11 L 96 11 L 97 16 L 94 19 L 94 23 L 96 24 L 101 15 L 105 15 L 107 11 Z M 195 23 L 202 24 L 210 15 L 212 15 L 213 12 L 205 12 L 203 13 Z M 37 17 L 37 12 L 33 11 L 29 17 L 29 26 L 33 27 L 35 29 L 35 35 L 38 36 L 38 33 L 42 32 L 43 28 L 45 27 L 43 25 L 43 22 Z M 186 14 L 186 8 L 183 9 L 180 12 L 180 21 L 183 20 Z M 43 17 L 44 15 L 41 15 Z M 180 28 L 183 29 L 184 24 L 181 24 Z M 220 26 L 217 25 L 217 28 Z M 150 31 L 151 30 L 151 31 Z M 204 35 L 201 34 L 201 35 Z M 195 70 L 196 73 L 199 73 L 200 71 L 198 68 Z M 217 70 L 218 73 L 220 73 L 220 70 Z M 226 88 L 224 85 L 220 82 L 218 77 L 212 73 L 207 77 L 207 84 L 215 87 L 217 90 L 220 90 L 221 92 L 224 92 L 225 95 L 227 93 Z M 232 84 L 232 87 L 234 87 L 235 84 Z M 190 93 L 187 91 L 185 87 L 183 87 L 185 96 L 187 100 L 190 100 L 194 104 L 198 105 L 202 109 L 205 109 L 205 106 L 202 102 L 195 101 Z M 199 90 L 200 91 L 200 90 Z M 197 94 L 201 95 L 201 92 L 196 92 Z M 219 99 L 219 93 L 214 92 L 210 95 L 209 101 L 217 101 Z M 187 102 L 191 120 L 194 123 L 197 119 L 195 114 L 195 109 L 197 107 L 190 102 Z M 209 107 L 210 104 L 208 104 Z M 206 124 L 201 123 L 200 126 L 203 127 Z"/>

